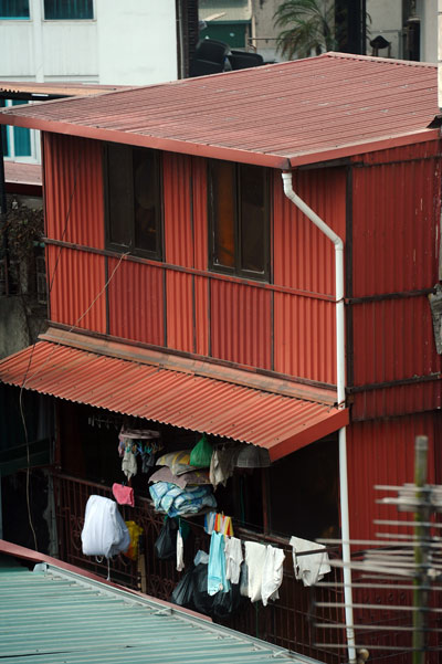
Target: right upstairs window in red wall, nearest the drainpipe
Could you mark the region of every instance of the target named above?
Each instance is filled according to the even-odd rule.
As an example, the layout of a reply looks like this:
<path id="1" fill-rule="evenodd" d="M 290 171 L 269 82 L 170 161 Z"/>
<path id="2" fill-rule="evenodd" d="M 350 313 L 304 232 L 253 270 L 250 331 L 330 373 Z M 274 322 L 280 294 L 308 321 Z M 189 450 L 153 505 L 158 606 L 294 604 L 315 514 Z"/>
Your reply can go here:
<path id="1" fill-rule="evenodd" d="M 269 280 L 269 178 L 259 166 L 211 161 L 212 270 Z"/>

